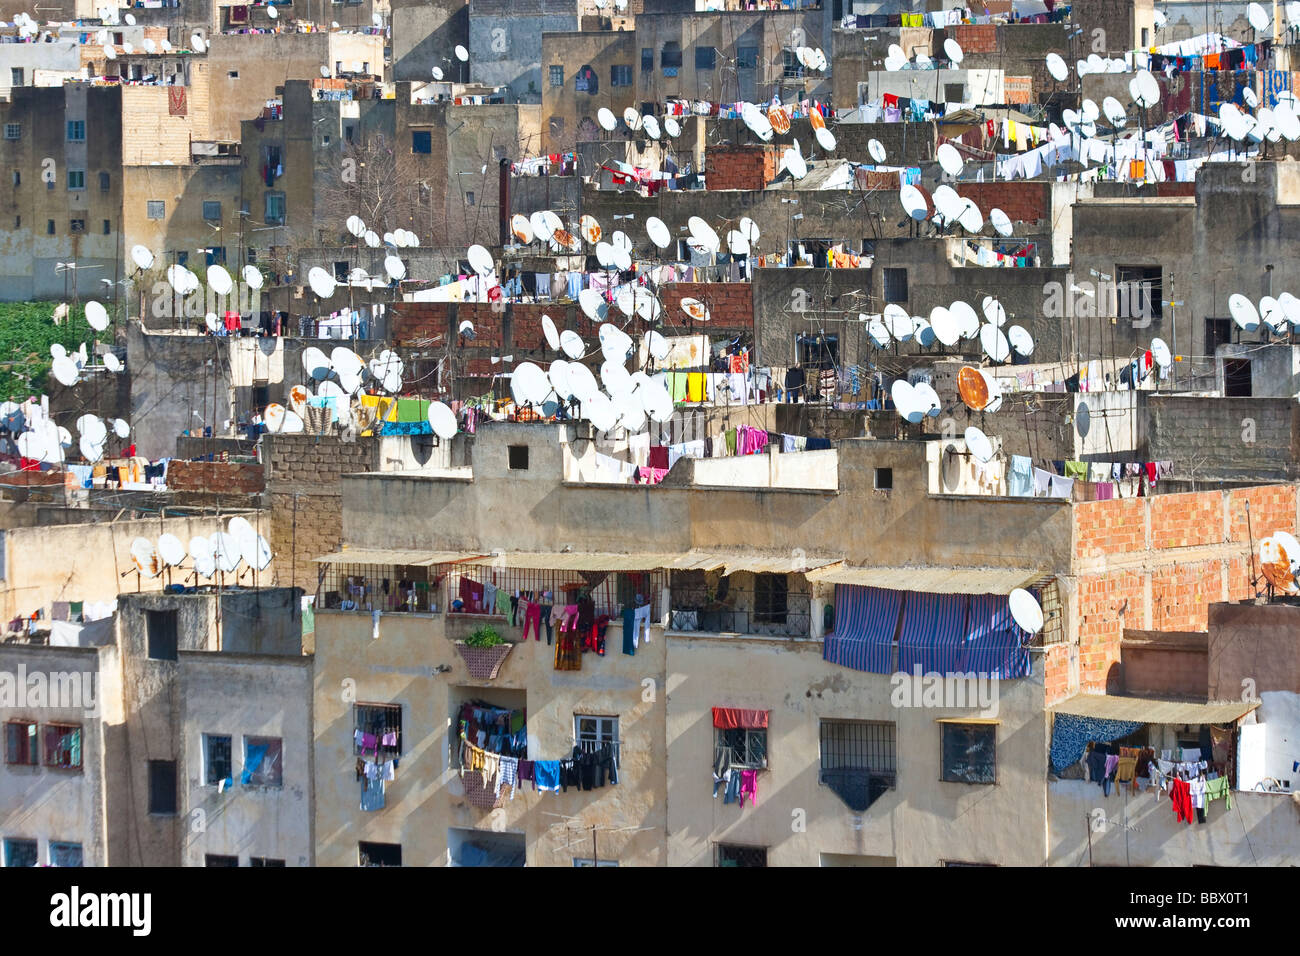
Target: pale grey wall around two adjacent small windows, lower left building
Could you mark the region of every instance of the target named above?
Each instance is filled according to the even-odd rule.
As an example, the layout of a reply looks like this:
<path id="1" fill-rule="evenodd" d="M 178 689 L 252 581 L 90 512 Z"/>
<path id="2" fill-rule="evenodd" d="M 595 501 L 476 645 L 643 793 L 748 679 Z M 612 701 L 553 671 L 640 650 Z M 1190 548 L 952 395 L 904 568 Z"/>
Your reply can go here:
<path id="1" fill-rule="evenodd" d="M 239 857 L 240 866 L 254 856 L 311 866 L 312 659 L 182 653 L 178 682 L 181 810 L 204 822 L 186 831 L 182 865 L 203 866 L 204 855 L 216 853 Z M 231 737 L 234 787 L 224 793 L 204 782 L 204 734 Z M 246 736 L 281 739 L 281 787 L 240 783 Z"/>

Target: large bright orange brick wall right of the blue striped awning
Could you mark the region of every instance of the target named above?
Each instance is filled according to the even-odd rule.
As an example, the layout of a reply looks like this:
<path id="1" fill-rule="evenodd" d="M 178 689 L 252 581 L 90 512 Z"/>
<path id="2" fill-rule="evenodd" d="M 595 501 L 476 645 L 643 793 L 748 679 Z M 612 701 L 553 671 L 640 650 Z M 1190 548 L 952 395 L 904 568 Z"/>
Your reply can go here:
<path id="1" fill-rule="evenodd" d="M 1209 605 L 1252 598 L 1252 551 L 1274 531 L 1295 533 L 1296 511 L 1295 484 L 1076 505 L 1079 689 L 1117 688 L 1126 627 L 1204 631 Z M 1067 693 L 1067 654 L 1049 654 L 1049 702 Z"/>

